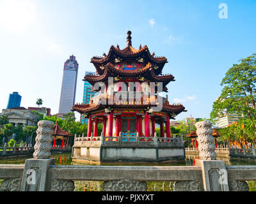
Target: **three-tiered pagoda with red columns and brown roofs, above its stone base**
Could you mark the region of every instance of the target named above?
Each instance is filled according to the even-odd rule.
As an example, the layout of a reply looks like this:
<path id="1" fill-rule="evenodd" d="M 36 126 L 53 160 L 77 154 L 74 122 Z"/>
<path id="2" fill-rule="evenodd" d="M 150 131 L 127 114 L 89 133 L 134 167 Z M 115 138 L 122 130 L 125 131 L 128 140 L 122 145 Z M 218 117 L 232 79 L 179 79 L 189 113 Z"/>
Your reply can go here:
<path id="1" fill-rule="evenodd" d="M 128 31 L 127 47 L 121 50 L 118 45 L 112 45 L 108 55 L 91 60 L 97 75 L 87 75 L 84 80 L 99 95 L 91 98 L 89 104 L 73 106 L 74 111 L 88 118 L 87 138 L 83 142 L 92 136 L 96 140 L 99 123 L 105 142 L 118 141 L 119 136 L 124 142 L 135 141 L 135 137 L 140 142 L 153 141 L 156 124 L 160 126 L 162 138 L 171 138 L 170 119 L 186 110 L 180 104 L 170 105 L 167 96 L 159 96 L 159 92 L 168 92 L 166 85 L 174 81 L 173 75 L 162 74 L 166 57 L 150 54 L 147 45 L 140 45 L 138 50 L 133 48 L 131 31 Z"/>

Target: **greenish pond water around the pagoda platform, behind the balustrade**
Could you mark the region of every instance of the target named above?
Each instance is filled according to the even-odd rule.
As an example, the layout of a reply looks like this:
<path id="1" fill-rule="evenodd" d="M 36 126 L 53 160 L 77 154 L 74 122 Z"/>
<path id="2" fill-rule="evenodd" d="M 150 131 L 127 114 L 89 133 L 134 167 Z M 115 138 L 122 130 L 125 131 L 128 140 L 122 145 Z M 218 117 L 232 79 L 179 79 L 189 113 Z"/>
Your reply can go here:
<path id="1" fill-rule="evenodd" d="M 17 158 L 17 159 L 0 159 L 0 164 L 24 164 L 26 159 L 32 158 Z M 84 165 L 72 163 L 71 153 L 54 153 L 51 158 L 55 158 L 56 165 Z M 175 164 L 164 164 L 164 166 L 194 166 L 195 159 L 198 159 L 198 156 L 186 155 L 186 159 L 183 162 Z M 225 161 L 227 166 L 237 166 L 237 165 L 256 165 L 256 160 L 248 159 L 230 159 L 225 157 L 217 157 L 221 161 Z M 103 182 L 98 181 L 76 181 L 75 191 L 102 191 Z M 147 182 L 148 191 L 173 191 L 174 182 L 168 180 L 164 182 Z M 248 186 L 250 191 L 256 191 L 256 181 L 248 181 Z"/>

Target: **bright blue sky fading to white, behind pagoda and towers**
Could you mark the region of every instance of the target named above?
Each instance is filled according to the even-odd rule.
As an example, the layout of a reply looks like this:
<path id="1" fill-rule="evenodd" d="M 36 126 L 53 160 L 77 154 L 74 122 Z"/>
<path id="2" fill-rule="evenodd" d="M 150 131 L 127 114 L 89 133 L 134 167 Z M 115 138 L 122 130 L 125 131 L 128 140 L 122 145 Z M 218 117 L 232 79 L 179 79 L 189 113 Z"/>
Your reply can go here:
<path id="1" fill-rule="evenodd" d="M 225 3 L 228 18 L 219 18 Z M 111 45 L 147 45 L 164 56 L 163 73 L 170 103 L 188 112 L 177 120 L 209 118 L 220 95 L 221 80 L 239 59 L 256 52 L 256 1 L 66 1 L 0 0 L 0 109 L 13 91 L 21 106 L 43 106 L 58 112 L 63 64 L 69 55 L 79 62 L 76 102 L 83 101 L 83 76 L 94 71 L 94 55 L 108 54 Z"/>

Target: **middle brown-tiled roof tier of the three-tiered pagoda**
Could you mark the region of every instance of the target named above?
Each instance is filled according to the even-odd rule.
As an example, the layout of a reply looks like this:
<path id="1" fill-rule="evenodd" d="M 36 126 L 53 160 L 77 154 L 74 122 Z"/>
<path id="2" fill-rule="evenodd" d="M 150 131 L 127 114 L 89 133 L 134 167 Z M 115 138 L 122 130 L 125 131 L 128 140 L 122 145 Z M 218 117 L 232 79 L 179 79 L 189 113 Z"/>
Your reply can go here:
<path id="1" fill-rule="evenodd" d="M 141 69 L 121 70 L 116 68 L 111 62 L 108 62 L 104 68 L 102 75 L 86 75 L 84 81 L 94 85 L 96 82 L 107 82 L 108 77 L 144 77 L 150 82 L 163 82 L 165 87 L 169 82 L 175 81 L 173 75 L 156 75 L 154 66 L 150 62 Z"/>

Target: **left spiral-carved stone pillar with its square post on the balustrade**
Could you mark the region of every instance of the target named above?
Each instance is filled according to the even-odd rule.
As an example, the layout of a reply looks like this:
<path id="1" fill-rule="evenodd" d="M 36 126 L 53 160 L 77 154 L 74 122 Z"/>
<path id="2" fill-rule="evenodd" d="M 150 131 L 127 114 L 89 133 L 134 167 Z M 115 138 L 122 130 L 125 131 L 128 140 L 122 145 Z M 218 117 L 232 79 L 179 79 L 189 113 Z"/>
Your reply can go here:
<path id="1" fill-rule="evenodd" d="M 51 179 L 48 175 L 50 165 L 55 163 L 55 159 L 50 158 L 53 126 L 54 123 L 48 120 L 38 122 L 35 152 L 33 159 L 26 159 L 20 191 L 53 191 L 54 187 L 64 185 L 63 182 L 74 186 L 73 181 Z"/>

